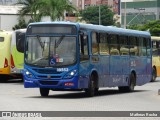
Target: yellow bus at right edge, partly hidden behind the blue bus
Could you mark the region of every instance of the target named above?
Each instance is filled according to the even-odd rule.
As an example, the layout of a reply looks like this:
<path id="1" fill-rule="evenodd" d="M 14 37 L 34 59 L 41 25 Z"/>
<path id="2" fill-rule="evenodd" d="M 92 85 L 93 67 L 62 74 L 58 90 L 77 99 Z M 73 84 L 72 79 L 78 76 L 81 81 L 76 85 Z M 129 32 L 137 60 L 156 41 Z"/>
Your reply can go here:
<path id="1" fill-rule="evenodd" d="M 152 82 L 160 76 L 160 37 L 151 36 L 152 39 Z"/>

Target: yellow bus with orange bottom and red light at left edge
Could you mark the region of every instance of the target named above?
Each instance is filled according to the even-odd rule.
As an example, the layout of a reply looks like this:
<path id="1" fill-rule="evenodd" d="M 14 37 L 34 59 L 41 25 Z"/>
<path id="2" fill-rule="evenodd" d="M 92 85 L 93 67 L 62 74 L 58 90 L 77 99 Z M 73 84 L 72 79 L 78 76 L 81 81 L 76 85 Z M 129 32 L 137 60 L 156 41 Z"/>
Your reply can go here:
<path id="1" fill-rule="evenodd" d="M 11 38 L 12 38 L 12 32 L 2 31 L 2 30 L 0 31 L 0 76 L 1 78 L 10 74 Z"/>

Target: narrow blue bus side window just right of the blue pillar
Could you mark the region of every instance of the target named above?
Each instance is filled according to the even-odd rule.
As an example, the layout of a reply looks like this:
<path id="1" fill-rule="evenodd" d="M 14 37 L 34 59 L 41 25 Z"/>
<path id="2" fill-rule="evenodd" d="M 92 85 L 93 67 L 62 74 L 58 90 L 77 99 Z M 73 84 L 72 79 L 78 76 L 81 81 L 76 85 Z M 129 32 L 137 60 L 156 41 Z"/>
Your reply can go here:
<path id="1" fill-rule="evenodd" d="M 98 46 L 98 33 L 92 33 L 92 54 L 98 55 L 99 46 Z"/>

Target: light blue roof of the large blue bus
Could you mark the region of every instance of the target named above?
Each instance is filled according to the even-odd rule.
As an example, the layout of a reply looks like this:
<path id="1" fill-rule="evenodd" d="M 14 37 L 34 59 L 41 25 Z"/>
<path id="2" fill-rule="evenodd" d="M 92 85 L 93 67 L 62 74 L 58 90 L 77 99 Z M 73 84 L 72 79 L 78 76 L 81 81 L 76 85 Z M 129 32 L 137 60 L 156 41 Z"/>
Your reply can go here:
<path id="1" fill-rule="evenodd" d="M 139 30 L 131 30 L 131 29 L 124 29 L 124 28 L 118 28 L 115 26 L 103 26 L 103 25 L 94 25 L 94 24 L 84 24 L 84 23 L 74 23 L 74 22 L 66 22 L 66 21 L 56 21 L 56 22 L 35 22 L 30 23 L 29 25 L 38 25 L 38 24 L 69 24 L 69 25 L 75 25 L 79 29 L 89 29 L 93 31 L 104 31 L 111 34 L 124 34 L 128 36 L 142 36 L 142 37 L 150 37 L 150 33 L 148 31 L 139 31 Z"/>

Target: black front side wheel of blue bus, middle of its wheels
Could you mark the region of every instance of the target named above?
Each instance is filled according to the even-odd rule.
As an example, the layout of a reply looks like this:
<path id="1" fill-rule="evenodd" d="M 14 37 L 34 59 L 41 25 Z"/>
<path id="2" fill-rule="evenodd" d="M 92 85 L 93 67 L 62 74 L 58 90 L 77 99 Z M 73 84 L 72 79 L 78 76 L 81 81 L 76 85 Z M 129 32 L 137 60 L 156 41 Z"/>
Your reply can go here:
<path id="1" fill-rule="evenodd" d="M 85 90 L 85 92 L 86 92 L 86 95 L 87 95 L 88 97 L 93 97 L 93 96 L 94 96 L 94 94 L 95 94 L 94 75 L 91 75 L 89 86 L 88 86 L 88 88 Z"/>

